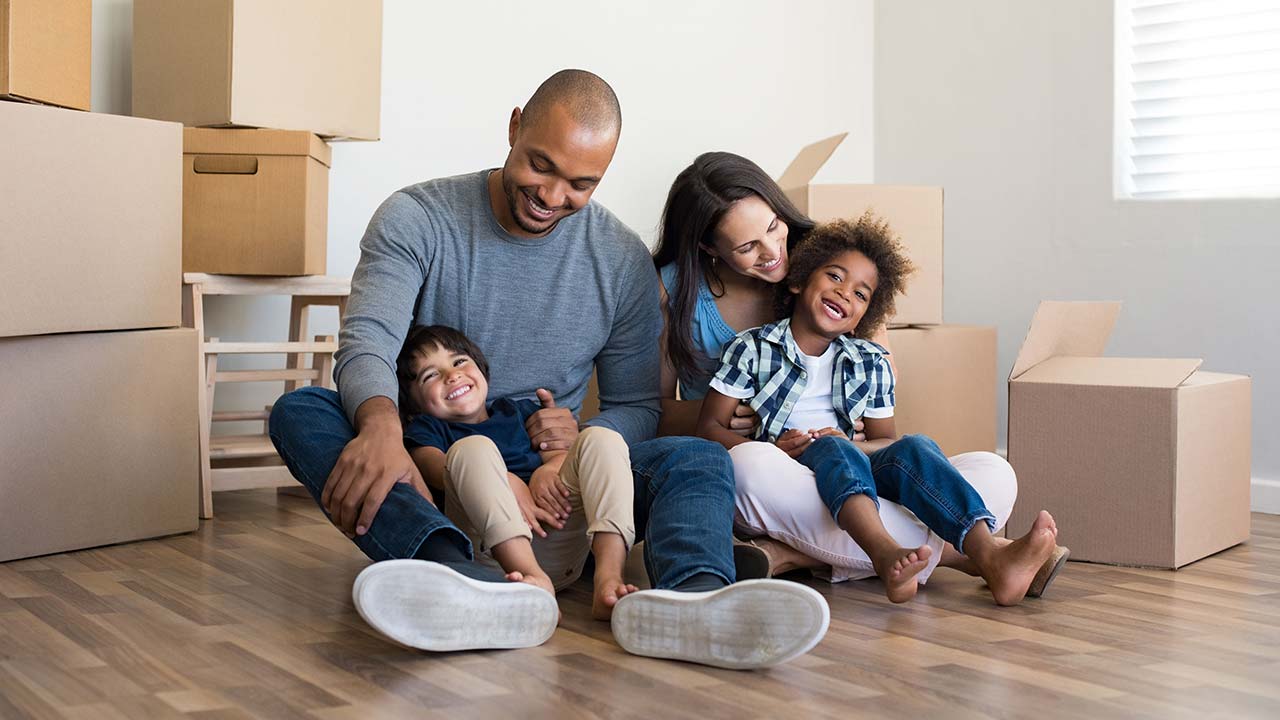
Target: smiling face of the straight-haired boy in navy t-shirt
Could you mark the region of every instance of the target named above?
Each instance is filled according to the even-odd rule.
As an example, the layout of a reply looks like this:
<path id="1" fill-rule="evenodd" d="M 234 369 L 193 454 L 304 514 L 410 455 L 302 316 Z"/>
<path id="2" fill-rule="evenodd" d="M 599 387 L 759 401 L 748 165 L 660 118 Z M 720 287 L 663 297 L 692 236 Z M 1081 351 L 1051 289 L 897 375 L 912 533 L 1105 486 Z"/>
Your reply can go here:
<path id="1" fill-rule="evenodd" d="M 489 383 L 470 356 L 428 346 L 413 354 L 410 397 L 417 409 L 453 423 L 483 423 L 489 419 L 484 401 Z"/>

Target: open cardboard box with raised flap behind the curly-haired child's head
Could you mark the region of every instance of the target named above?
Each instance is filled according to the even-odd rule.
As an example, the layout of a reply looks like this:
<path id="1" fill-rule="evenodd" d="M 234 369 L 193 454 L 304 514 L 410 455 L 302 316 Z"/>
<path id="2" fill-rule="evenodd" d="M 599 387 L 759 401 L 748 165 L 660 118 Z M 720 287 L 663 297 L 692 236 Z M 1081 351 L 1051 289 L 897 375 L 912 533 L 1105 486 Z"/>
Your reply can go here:
<path id="1" fill-rule="evenodd" d="M 787 165 L 778 184 L 817 222 L 856 220 L 867 210 L 888 220 L 919 268 L 897 299 L 892 325 L 942 324 L 942 188 L 891 184 L 815 184 L 814 176 L 849 133 L 809 145 Z"/>

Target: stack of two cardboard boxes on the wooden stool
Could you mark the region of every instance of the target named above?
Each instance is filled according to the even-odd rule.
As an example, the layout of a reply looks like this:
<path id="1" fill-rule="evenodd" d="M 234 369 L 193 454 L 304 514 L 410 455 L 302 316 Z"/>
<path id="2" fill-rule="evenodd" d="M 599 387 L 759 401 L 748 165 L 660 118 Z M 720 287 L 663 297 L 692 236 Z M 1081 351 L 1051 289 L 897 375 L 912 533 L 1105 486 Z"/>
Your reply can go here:
<path id="1" fill-rule="evenodd" d="M 324 137 L 378 140 L 381 27 L 380 0 L 134 0 L 133 114 L 188 126 L 183 272 L 324 274 Z"/>

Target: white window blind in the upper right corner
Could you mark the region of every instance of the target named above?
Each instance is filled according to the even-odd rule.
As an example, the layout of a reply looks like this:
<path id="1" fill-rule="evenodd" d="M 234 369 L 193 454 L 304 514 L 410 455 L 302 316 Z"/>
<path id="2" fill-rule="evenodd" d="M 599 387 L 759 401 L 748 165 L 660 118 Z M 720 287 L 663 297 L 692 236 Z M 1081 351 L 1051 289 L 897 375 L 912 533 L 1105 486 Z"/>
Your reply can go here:
<path id="1" fill-rule="evenodd" d="M 1121 197 L 1280 196 L 1280 0 L 1116 0 Z"/>

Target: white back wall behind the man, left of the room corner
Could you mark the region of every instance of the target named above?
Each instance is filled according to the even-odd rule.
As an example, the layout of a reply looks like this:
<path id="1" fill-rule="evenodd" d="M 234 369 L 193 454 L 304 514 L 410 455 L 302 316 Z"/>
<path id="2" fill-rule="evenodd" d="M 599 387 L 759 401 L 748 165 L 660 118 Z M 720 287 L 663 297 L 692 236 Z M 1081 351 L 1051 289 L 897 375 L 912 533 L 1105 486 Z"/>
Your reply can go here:
<path id="1" fill-rule="evenodd" d="M 93 10 L 93 109 L 127 114 L 132 0 Z M 870 179 L 872 0 L 385 0 L 383 27 L 383 140 L 334 146 L 329 274 L 351 274 L 390 192 L 500 165 L 511 109 L 566 67 L 600 74 L 622 101 L 622 140 L 595 199 L 649 242 L 671 181 L 707 150 L 778 174 L 803 145 L 847 129 L 822 178 Z M 287 313 L 276 299 L 218 299 L 207 323 L 223 338 L 283 338 Z M 330 315 L 312 323 L 337 331 Z M 232 386 L 215 404 L 273 397 Z"/>

